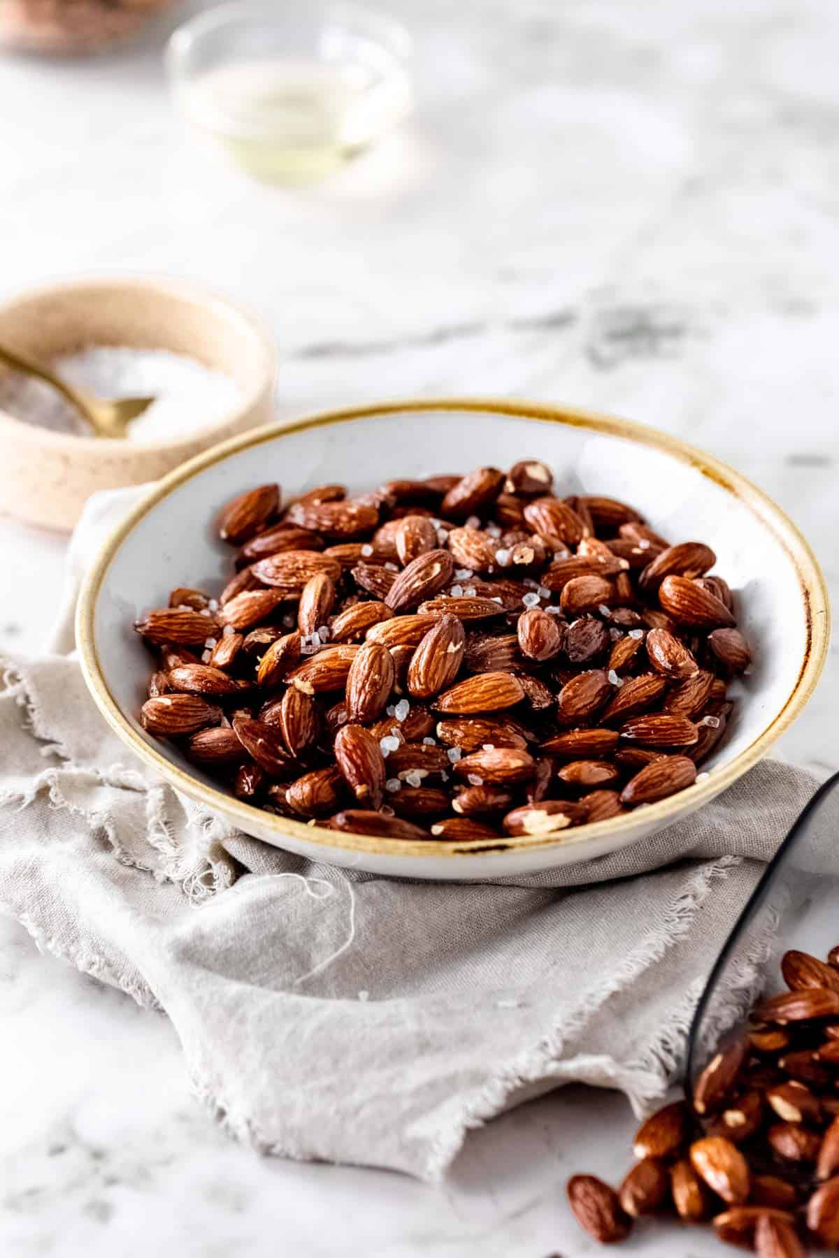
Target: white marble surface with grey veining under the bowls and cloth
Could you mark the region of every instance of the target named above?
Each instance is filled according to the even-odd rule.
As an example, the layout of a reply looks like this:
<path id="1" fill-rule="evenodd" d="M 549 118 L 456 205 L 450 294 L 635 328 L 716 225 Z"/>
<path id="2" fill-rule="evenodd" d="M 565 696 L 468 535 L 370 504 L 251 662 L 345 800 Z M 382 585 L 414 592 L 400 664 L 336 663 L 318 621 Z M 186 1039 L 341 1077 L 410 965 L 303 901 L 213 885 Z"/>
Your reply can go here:
<path id="1" fill-rule="evenodd" d="M 189 8 L 189 6 L 187 6 Z M 196 5 L 192 5 L 196 8 Z M 167 272 L 258 309 L 279 409 L 516 394 L 657 424 L 761 484 L 834 593 L 839 88 L 829 0 L 394 0 L 418 107 L 327 182 L 267 189 L 176 125 L 165 26 L 4 58 L 0 294 Z M 0 472 L 1 474 L 1 472 Z M 0 648 L 38 650 L 65 538 L 0 521 Z M 781 751 L 839 767 L 834 647 Z M 570 1089 L 470 1137 L 439 1189 L 259 1160 L 191 1099 L 170 1025 L 0 922 L 0 1252 L 201 1258 L 592 1253 L 565 1176 L 631 1117 Z M 717 1252 L 648 1229 L 629 1252 Z"/>

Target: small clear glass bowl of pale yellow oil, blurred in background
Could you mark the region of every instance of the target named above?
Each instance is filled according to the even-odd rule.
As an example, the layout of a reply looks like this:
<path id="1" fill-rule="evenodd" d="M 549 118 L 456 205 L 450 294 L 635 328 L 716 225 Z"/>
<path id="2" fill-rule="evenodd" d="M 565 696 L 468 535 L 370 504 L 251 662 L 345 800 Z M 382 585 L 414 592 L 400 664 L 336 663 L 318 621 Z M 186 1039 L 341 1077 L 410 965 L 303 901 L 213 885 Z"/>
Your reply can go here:
<path id="1" fill-rule="evenodd" d="M 181 112 L 265 182 L 318 177 L 401 122 L 409 59 L 400 25 L 330 0 L 221 5 L 166 49 Z"/>

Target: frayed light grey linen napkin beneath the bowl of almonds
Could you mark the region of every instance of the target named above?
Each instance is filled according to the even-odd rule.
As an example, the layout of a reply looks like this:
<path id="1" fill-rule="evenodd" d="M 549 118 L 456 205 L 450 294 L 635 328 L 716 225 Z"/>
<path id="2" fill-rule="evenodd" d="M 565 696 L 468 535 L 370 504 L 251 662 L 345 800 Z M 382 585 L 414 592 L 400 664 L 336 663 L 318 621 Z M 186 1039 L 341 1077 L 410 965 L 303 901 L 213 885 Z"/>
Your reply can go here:
<path id="1" fill-rule="evenodd" d="M 164 1010 L 197 1096 L 265 1152 L 434 1180 L 470 1128 L 562 1083 L 658 1101 L 815 781 L 764 762 L 623 852 L 491 883 L 333 869 L 233 832 L 132 756 L 65 653 L 79 572 L 137 493 L 91 501 L 55 653 L 5 660 L 0 906 Z"/>

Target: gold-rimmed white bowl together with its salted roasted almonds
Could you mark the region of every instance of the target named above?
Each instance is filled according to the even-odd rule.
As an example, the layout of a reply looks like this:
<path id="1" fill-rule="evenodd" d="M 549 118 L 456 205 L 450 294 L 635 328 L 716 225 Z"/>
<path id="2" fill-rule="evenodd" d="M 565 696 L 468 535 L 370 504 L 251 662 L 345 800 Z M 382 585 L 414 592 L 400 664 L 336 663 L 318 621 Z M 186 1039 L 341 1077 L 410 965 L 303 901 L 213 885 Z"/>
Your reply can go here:
<path id="1" fill-rule="evenodd" d="M 828 605 L 795 526 L 698 450 L 408 403 L 165 478 L 77 637 L 117 732 L 231 824 L 457 879 L 603 855 L 712 799 L 806 702 Z"/>

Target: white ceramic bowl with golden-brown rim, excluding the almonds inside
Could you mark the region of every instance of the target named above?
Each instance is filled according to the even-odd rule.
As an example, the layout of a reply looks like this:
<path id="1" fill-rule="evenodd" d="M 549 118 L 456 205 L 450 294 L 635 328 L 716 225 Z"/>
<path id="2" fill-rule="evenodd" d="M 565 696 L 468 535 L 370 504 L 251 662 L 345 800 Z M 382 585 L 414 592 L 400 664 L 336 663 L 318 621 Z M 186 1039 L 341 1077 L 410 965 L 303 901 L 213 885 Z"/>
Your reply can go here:
<path id="1" fill-rule="evenodd" d="M 738 591 L 755 648 L 737 716 L 707 779 L 659 804 L 547 838 L 409 843 L 342 834 L 264 813 L 225 794 L 137 722 L 150 658 L 132 629 L 176 585 L 220 587 L 230 550 L 218 541 L 221 503 L 265 479 L 287 496 L 326 482 L 362 491 L 394 477 L 550 463 L 562 493 L 604 493 L 645 513 L 674 541 L 699 538 Z M 96 702 L 161 776 L 268 843 L 313 860 L 375 873 L 473 879 L 590 859 L 693 813 L 743 774 L 801 711 L 828 648 L 824 580 L 795 526 L 731 468 L 654 429 L 525 403 L 403 403 L 277 424 L 235 438 L 166 477 L 117 530 L 91 571 L 77 638 Z"/>

